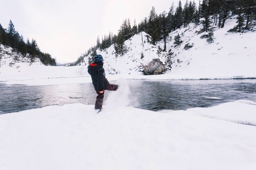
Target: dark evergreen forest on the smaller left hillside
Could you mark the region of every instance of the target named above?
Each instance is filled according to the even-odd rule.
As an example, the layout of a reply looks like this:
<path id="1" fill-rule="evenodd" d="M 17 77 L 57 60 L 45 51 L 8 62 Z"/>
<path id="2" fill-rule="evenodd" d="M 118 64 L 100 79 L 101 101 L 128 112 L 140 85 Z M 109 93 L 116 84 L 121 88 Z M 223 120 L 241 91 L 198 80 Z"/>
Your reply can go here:
<path id="1" fill-rule="evenodd" d="M 23 57 L 26 57 L 28 53 L 31 62 L 34 62 L 35 58 L 39 58 L 45 65 L 56 66 L 56 60 L 49 53 L 41 52 L 36 40 L 32 39 L 30 42 L 27 39 L 27 42 L 24 42 L 22 35 L 15 30 L 11 20 L 7 29 L 4 29 L 0 24 L 0 43 L 10 46 L 14 51 L 21 53 Z"/>

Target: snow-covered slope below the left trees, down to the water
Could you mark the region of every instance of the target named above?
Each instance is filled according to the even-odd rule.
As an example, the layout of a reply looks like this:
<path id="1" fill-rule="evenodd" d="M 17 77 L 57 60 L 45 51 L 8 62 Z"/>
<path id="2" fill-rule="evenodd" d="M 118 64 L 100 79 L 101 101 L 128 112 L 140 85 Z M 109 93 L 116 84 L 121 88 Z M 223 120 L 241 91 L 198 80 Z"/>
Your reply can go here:
<path id="1" fill-rule="evenodd" d="M 85 73 L 85 67 L 45 66 L 38 58 L 31 63 L 28 55 L 24 57 L 0 44 L 0 81 L 33 85 L 84 83 L 88 80 L 80 77 Z"/>

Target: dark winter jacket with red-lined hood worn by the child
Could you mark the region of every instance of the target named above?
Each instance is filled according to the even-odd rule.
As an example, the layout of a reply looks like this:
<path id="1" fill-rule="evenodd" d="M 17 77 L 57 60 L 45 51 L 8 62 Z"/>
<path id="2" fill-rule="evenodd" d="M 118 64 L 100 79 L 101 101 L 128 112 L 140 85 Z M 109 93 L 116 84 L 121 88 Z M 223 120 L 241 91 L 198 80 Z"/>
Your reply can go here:
<path id="1" fill-rule="evenodd" d="M 105 70 L 101 65 L 91 63 L 88 66 L 88 73 L 92 77 L 92 84 L 96 91 L 103 91 L 108 88 L 109 82 L 105 78 Z"/>

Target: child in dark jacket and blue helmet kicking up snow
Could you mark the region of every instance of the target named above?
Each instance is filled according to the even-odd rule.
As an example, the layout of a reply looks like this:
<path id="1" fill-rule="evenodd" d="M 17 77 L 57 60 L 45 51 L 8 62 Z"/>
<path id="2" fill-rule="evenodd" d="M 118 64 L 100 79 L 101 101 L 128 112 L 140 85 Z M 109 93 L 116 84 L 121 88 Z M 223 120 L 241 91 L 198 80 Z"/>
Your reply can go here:
<path id="1" fill-rule="evenodd" d="M 102 55 L 96 54 L 93 58 L 93 62 L 88 66 L 88 73 L 92 77 L 92 84 L 96 93 L 98 94 L 95 102 L 95 110 L 102 109 L 104 91 L 116 91 L 118 85 L 110 84 L 108 79 L 105 78 L 105 70 L 103 68 Z"/>

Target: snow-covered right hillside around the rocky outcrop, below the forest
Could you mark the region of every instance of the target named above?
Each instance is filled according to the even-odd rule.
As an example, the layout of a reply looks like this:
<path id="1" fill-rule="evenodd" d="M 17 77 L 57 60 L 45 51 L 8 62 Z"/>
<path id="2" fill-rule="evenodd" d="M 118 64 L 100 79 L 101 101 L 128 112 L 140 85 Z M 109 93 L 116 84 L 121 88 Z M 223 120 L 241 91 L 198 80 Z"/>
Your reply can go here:
<path id="1" fill-rule="evenodd" d="M 104 68 L 107 73 L 139 73 L 141 66 L 147 65 L 155 58 L 159 58 L 166 63 L 168 51 L 173 52 L 171 60 L 173 62 L 171 72 L 167 72 L 169 77 L 182 78 L 227 78 L 227 77 L 256 77 L 256 33 L 231 33 L 229 29 L 236 25 L 236 17 L 226 21 L 225 27 L 218 29 L 213 26 L 214 42 L 209 44 L 206 39 L 200 39 L 204 33 L 198 34 L 202 25 L 189 26 L 177 29 L 169 34 L 167 40 L 167 52 L 157 54 L 158 46 L 164 49 L 164 42 L 160 41 L 156 45 L 147 42 L 146 33 L 134 35 L 125 41 L 128 52 L 124 55 L 115 55 L 114 46 L 110 46 L 97 53 L 104 57 Z M 181 45 L 174 44 L 175 35 L 181 36 Z M 149 36 L 150 37 L 150 36 Z M 142 46 L 142 42 L 143 45 Z M 186 44 L 193 44 L 193 47 L 185 50 Z M 141 53 L 144 58 L 141 59 Z M 88 64 L 88 58 L 79 65 Z"/>

